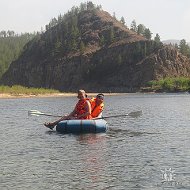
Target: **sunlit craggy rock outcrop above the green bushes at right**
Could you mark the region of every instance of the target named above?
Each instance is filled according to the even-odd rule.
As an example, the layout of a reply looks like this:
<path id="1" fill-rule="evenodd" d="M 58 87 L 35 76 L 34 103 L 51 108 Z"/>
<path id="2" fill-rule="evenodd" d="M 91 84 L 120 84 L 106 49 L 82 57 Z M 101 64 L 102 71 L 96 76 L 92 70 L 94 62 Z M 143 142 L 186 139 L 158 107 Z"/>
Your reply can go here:
<path id="1" fill-rule="evenodd" d="M 164 46 L 137 64 L 134 78 L 136 85 L 143 86 L 147 81 L 166 77 L 190 77 L 190 59 L 172 46 Z M 141 80 L 138 80 L 141 79 Z"/>

